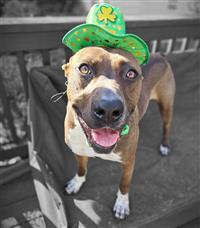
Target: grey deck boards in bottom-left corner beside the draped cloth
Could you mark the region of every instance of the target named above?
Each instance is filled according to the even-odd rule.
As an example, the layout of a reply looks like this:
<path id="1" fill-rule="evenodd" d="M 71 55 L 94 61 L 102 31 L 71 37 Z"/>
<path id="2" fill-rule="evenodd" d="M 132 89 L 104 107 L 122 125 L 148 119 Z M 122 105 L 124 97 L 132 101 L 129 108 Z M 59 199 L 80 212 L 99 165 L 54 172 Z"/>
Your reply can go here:
<path id="1" fill-rule="evenodd" d="M 44 227 L 31 173 L 0 188 L 0 227 Z"/>

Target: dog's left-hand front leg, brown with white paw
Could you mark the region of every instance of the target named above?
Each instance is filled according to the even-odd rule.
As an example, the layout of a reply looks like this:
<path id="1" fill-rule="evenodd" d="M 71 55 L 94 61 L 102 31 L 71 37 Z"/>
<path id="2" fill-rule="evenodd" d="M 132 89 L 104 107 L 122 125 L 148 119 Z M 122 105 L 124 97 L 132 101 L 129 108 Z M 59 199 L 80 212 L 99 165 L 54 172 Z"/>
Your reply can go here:
<path id="1" fill-rule="evenodd" d="M 86 181 L 88 157 L 76 155 L 76 160 L 77 174 L 65 185 L 68 194 L 77 193 Z"/>

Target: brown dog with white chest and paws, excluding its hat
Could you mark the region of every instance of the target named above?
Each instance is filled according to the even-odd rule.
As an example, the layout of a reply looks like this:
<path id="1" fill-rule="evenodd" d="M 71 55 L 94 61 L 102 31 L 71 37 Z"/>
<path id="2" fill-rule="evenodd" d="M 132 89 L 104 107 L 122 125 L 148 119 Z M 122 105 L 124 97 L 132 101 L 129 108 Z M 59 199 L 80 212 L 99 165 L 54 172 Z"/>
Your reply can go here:
<path id="1" fill-rule="evenodd" d="M 167 155 L 175 81 L 169 63 L 152 55 L 141 68 L 120 49 L 86 47 L 63 65 L 68 80 L 65 142 L 76 154 L 78 170 L 66 185 L 68 194 L 85 182 L 88 157 L 119 161 L 122 177 L 114 205 L 117 218 L 129 214 L 129 187 L 139 137 L 138 124 L 150 99 L 155 99 L 163 119 L 162 155 Z M 125 135 L 121 135 L 128 126 Z"/>

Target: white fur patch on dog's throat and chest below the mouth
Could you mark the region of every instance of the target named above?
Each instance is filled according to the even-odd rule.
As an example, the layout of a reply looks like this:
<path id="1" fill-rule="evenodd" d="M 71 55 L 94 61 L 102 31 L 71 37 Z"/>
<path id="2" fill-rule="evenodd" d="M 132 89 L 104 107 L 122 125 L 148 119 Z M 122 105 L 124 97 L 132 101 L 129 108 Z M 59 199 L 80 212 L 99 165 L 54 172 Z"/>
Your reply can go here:
<path id="1" fill-rule="evenodd" d="M 114 153 L 110 154 L 99 154 L 96 153 L 93 148 L 88 144 L 85 133 L 78 120 L 75 120 L 75 127 L 69 130 L 65 141 L 67 142 L 73 153 L 88 157 L 98 157 L 105 160 L 111 160 L 116 162 L 121 162 L 120 154 Z"/>

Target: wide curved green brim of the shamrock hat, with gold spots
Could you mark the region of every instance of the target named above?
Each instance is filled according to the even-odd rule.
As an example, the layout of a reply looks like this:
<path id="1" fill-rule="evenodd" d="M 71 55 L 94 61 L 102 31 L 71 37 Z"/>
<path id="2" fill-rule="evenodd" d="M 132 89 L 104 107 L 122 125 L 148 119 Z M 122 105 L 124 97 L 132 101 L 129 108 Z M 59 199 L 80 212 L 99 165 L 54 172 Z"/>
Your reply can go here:
<path id="1" fill-rule="evenodd" d="M 149 59 L 148 46 L 140 37 L 133 34 L 115 35 L 94 24 L 76 26 L 64 35 L 62 43 L 73 52 L 89 46 L 103 46 L 128 51 L 140 64 L 147 63 Z"/>

